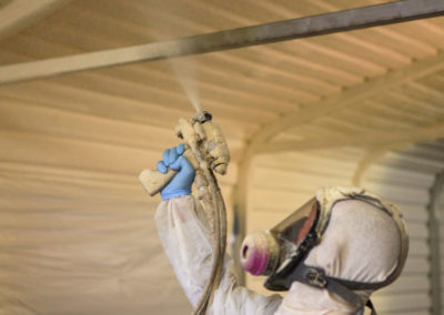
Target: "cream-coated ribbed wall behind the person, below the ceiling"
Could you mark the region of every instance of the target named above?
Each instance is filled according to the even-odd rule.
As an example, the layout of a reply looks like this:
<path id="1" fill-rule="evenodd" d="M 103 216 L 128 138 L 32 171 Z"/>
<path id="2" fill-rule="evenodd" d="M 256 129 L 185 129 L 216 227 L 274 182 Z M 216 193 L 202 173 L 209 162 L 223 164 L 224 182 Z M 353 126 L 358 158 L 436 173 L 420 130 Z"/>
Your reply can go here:
<path id="1" fill-rule="evenodd" d="M 154 228 L 160 200 L 149 197 L 137 180 L 160 150 L 19 132 L 0 132 L 0 139 L 8 149 L 0 161 L 1 315 L 191 312 Z M 431 306 L 425 207 L 443 159 L 428 155 L 444 150 L 417 150 L 424 156 L 387 154 L 363 179 L 364 187 L 400 205 L 411 233 L 404 274 L 374 298 L 383 315 L 425 315 Z M 353 148 L 259 155 L 248 232 L 273 226 L 320 185 L 350 185 L 363 156 L 364 150 Z M 229 177 L 221 177 L 229 209 L 235 182 L 234 164 L 230 167 Z M 262 281 L 248 284 L 264 293 Z"/>

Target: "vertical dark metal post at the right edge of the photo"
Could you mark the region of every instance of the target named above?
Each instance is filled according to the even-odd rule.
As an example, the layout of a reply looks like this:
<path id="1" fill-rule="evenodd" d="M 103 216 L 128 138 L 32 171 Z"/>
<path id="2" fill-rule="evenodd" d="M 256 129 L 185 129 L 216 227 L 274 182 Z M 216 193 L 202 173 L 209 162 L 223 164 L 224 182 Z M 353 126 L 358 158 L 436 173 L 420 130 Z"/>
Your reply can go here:
<path id="1" fill-rule="evenodd" d="M 428 243 L 430 243 L 430 284 L 432 296 L 432 315 L 441 315 L 442 297 L 441 297 L 441 252 L 440 252 L 440 206 L 444 192 L 444 170 L 436 174 L 435 182 L 430 190 L 428 212 Z"/>

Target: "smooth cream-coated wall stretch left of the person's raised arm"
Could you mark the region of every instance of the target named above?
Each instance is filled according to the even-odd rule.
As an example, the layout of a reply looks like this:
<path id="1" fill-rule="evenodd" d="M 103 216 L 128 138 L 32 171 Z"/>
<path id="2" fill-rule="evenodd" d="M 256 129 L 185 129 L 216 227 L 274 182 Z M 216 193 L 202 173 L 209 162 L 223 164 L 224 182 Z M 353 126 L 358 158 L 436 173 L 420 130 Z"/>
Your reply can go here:
<path id="1" fill-rule="evenodd" d="M 0 314 L 190 312 L 134 179 L 0 167 Z"/>

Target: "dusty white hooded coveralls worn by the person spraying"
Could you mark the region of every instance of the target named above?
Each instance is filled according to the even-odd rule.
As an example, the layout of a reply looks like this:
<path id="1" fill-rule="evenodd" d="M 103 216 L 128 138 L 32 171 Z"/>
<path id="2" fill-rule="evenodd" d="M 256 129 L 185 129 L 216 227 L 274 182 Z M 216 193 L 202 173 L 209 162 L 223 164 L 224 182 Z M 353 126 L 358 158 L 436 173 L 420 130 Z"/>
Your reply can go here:
<path id="1" fill-rule="evenodd" d="M 332 202 L 339 190 L 320 189 L 317 200 Z M 163 248 L 193 307 L 210 277 L 212 263 L 211 234 L 204 215 L 191 195 L 162 201 L 155 214 Z M 305 264 L 322 267 L 332 277 L 381 282 L 397 265 L 400 242 L 398 231 L 389 215 L 364 202 L 339 202 L 321 243 L 310 252 Z M 292 284 L 283 298 L 278 294 L 260 295 L 236 284 L 232 266 L 232 257 L 225 254 L 210 314 L 347 315 L 355 311 L 335 294 L 299 282 Z M 356 293 L 365 304 L 372 292 Z"/>

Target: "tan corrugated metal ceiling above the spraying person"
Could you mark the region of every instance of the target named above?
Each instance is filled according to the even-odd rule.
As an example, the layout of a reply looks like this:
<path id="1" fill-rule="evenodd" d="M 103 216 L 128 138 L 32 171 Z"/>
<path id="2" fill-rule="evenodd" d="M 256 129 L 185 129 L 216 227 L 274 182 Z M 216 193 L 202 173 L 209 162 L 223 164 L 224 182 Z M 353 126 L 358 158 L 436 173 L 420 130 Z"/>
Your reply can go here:
<path id="1" fill-rule="evenodd" d="M 363 1 L 360 6 L 383 1 Z M 32 27 L 1 41 L 2 64 L 120 48 L 230 28 L 352 8 L 354 1 L 71 1 Z M 240 140 L 260 125 L 434 57 L 444 47 L 444 19 L 337 33 L 182 58 L 203 108 Z M 190 67 L 189 67 L 190 68 Z M 379 93 L 286 136 L 307 140 L 382 130 L 404 132 L 441 123 L 443 72 Z M 32 99 L 44 106 L 138 123 L 164 125 L 190 106 L 168 61 L 125 65 L 2 87 L 2 99 Z M 70 104 L 70 100 L 73 104 Z M 115 103 L 115 106 L 114 106 Z M 124 106 L 125 114 L 120 106 Z M 107 109 L 107 110 L 104 110 Z M 133 113 L 132 115 L 129 113 Z M 174 119 L 171 120 L 171 116 Z M 154 118 L 155 116 L 155 118 Z M 224 123 L 222 123 L 224 125 Z M 285 135 L 284 135 L 285 136 Z"/>

